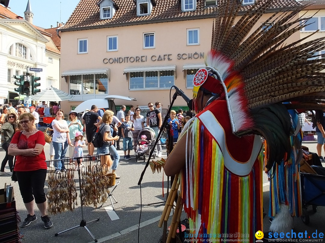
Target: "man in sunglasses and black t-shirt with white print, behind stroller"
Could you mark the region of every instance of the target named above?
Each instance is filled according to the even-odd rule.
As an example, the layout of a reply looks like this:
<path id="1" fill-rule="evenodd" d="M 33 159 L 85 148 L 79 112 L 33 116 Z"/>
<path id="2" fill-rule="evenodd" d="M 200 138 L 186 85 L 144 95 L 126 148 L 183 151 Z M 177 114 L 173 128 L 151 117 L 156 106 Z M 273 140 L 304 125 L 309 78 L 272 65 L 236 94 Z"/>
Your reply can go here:
<path id="1" fill-rule="evenodd" d="M 160 105 L 160 102 L 156 102 L 156 107 Z M 156 134 L 156 139 L 158 139 L 159 129 L 162 126 L 162 113 L 158 109 L 153 108 L 153 104 L 150 102 L 148 104 L 149 111 L 147 112 L 147 127 L 151 127 Z M 157 143 L 157 147 L 155 148 L 155 153 L 157 157 L 162 156 L 162 146 L 160 142 Z"/>

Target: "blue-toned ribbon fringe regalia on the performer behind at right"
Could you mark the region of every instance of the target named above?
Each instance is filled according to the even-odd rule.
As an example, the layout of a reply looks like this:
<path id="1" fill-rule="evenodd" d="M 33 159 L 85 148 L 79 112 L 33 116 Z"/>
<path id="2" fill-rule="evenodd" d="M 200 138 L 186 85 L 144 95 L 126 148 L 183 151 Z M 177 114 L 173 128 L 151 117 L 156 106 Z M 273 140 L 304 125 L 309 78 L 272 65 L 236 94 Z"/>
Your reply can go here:
<path id="1" fill-rule="evenodd" d="M 296 164 L 297 160 L 299 160 L 299 148 L 295 143 L 296 140 L 301 145 L 302 131 L 295 110 L 288 110 L 288 112 L 294 130 L 294 134 L 290 136 L 291 155 L 288 160 L 287 156 L 284 157 L 280 164 L 273 165 L 267 171 L 270 178 L 269 217 L 274 217 L 279 213 L 280 204 L 288 206 L 292 216 L 300 217 L 302 214 L 300 165 L 299 163 Z"/>

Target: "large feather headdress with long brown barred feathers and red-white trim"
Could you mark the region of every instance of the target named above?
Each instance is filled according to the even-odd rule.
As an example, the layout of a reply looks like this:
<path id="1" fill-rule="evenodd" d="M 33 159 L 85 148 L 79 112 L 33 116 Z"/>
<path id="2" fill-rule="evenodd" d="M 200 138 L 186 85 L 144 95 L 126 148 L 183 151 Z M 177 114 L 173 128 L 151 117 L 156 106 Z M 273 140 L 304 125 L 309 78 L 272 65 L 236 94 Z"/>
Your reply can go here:
<path id="1" fill-rule="evenodd" d="M 288 106 L 302 110 L 325 106 L 320 94 L 325 91 L 325 59 L 313 58 L 325 49 L 325 37 L 305 43 L 288 40 L 311 18 L 298 17 L 305 7 L 299 3 L 272 14 L 256 28 L 272 2 L 256 3 L 242 14 L 238 1 L 220 1 L 207 67 L 195 75 L 193 88 L 195 104 L 201 87 L 213 95 L 223 87 L 217 93 L 227 100 L 233 133 L 254 133 L 268 140 L 268 168 L 290 150 L 290 118 L 282 103 L 293 101 Z M 199 72 L 206 77 L 195 83 Z"/>

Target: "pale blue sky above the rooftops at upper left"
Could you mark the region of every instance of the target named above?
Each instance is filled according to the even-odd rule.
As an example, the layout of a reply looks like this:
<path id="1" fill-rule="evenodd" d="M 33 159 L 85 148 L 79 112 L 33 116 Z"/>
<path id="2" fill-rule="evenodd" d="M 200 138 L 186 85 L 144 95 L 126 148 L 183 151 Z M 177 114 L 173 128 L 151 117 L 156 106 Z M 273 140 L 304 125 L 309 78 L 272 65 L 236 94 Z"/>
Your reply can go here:
<path id="1" fill-rule="evenodd" d="M 57 22 L 67 22 L 80 0 L 30 0 L 34 14 L 33 25 L 44 29 L 57 26 Z M 28 0 L 10 0 L 10 11 L 24 17 Z M 60 21 L 61 2 L 61 21 Z"/>

